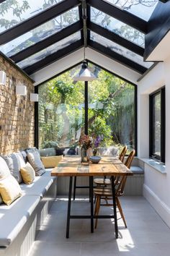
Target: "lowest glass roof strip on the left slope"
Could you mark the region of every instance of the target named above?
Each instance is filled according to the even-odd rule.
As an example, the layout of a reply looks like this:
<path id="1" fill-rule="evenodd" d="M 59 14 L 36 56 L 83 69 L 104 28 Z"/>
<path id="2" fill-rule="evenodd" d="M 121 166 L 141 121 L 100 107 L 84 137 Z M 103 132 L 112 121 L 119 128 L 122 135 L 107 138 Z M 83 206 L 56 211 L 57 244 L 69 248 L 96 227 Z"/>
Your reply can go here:
<path id="1" fill-rule="evenodd" d="M 33 54 L 29 58 L 18 62 L 17 65 L 19 67 L 21 67 L 22 69 L 29 67 L 32 64 L 35 64 L 37 61 L 41 61 L 42 59 L 45 59 L 50 54 L 54 54 L 55 52 L 57 52 L 63 48 L 66 48 L 71 43 L 74 43 L 80 39 L 81 39 L 81 33 L 79 31 L 72 35 L 69 35 L 68 37 L 64 38 L 63 40 L 58 41 L 57 43 L 54 43 L 52 46 L 48 46 L 47 48 L 43 49 L 42 51 L 37 52 L 37 54 Z"/>

